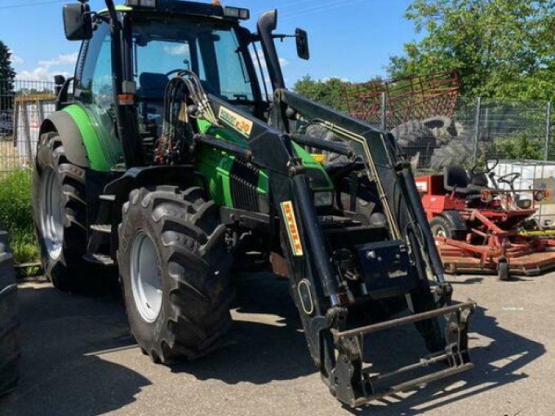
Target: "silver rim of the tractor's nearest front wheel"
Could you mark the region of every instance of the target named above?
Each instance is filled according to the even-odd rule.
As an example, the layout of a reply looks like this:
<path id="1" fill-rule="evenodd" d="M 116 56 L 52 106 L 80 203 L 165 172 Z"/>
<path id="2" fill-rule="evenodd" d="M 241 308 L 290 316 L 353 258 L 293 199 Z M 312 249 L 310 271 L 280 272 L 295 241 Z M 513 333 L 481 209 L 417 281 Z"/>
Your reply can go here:
<path id="1" fill-rule="evenodd" d="M 135 306 L 146 322 L 154 322 L 162 309 L 160 261 L 152 239 L 140 230 L 131 248 L 131 290 Z"/>

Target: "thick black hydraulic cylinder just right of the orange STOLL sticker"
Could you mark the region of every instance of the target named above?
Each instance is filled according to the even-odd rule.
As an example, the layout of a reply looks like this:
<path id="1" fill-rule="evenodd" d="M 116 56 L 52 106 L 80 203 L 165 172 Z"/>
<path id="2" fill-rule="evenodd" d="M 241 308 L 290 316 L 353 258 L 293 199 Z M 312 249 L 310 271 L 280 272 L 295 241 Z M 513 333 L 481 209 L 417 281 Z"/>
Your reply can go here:
<path id="1" fill-rule="evenodd" d="M 330 297 L 333 306 L 339 305 L 338 286 L 334 272 L 330 266 L 330 254 L 324 245 L 324 236 L 311 196 L 309 182 L 306 175 L 293 176 L 293 195 L 298 203 L 298 212 L 302 218 L 302 232 L 309 245 L 310 257 L 318 272 L 325 296 Z M 305 254 L 306 255 L 306 254 Z"/>

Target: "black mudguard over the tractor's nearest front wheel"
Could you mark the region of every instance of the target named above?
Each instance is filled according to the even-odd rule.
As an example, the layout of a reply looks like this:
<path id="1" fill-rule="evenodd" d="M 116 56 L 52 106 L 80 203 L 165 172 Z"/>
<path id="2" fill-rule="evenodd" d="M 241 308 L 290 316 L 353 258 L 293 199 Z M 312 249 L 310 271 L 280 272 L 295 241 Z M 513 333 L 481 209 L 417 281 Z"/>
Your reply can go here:
<path id="1" fill-rule="evenodd" d="M 121 223 L 121 207 L 129 200 L 129 193 L 133 189 L 141 187 L 155 187 L 157 185 L 168 185 L 183 187 L 185 184 L 191 186 L 195 180 L 203 181 L 203 177 L 196 175 L 194 166 L 144 166 L 130 168 L 121 177 L 113 180 L 104 189 L 105 195 L 114 196 L 110 219 L 112 221 L 112 232 L 110 251 L 115 259 L 119 245 L 117 233 L 118 225 Z M 207 189 L 207 184 L 203 184 Z"/>

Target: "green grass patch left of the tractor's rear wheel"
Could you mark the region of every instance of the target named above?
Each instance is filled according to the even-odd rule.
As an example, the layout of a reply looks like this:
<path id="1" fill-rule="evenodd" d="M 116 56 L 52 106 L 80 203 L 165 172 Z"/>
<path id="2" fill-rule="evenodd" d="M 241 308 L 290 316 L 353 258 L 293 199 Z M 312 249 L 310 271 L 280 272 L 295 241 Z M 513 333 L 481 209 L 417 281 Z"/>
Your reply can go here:
<path id="1" fill-rule="evenodd" d="M 8 231 L 16 263 L 39 259 L 33 230 L 30 169 L 19 169 L 0 177 L 0 227 Z"/>

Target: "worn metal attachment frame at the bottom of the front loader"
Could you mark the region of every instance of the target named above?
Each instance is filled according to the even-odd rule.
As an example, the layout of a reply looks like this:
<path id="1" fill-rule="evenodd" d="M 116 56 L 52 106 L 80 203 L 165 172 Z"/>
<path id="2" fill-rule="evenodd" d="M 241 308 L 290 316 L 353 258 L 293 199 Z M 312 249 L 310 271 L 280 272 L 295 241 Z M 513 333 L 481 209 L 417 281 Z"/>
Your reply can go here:
<path id="1" fill-rule="evenodd" d="M 432 311 L 415 313 L 403 318 L 378 322 L 365 327 L 348 329 L 345 331 L 332 329 L 334 342 L 336 345 L 339 345 L 340 351 L 333 374 L 336 384 L 331 387 L 332 393 L 336 395 L 337 399 L 343 401 L 343 403 L 348 406 L 357 407 L 368 404 L 376 399 L 393 395 L 397 392 L 406 391 L 411 388 L 418 387 L 419 385 L 424 385 L 432 381 L 444 379 L 445 377 L 470 370 L 474 367 L 474 365 L 470 363 L 470 359 L 468 357 L 468 320 L 475 311 L 476 306 L 476 302 L 468 300 L 467 302 L 461 304 L 454 304 L 434 309 Z M 446 320 L 444 331 L 446 343 L 445 350 L 422 357 L 417 363 L 405 365 L 404 367 L 400 367 L 391 372 L 373 373 L 371 372 L 371 367 L 363 368 L 361 366 L 361 349 L 359 350 L 361 354 L 358 356 L 357 354 L 350 355 L 349 353 L 341 353 L 341 351 L 352 352 L 352 345 L 358 345 L 360 347 L 363 344 L 362 337 L 365 335 L 400 327 L 406 324 L 440 318 L 441 316 L 445 317 Z M 353 360 L 353 358 L 355 359 Z M 409 379 L 408 381 L 393 383 L 387 387 L 375 387 L 378 381 L 381 382 L 387 379 L 395 379 L 402 374 L 408 374 L 413 370 L 418 370 L 422 367 L 428 367 L 438 363 L 443 363 L 448 367 L 430 374 L 425 374 L 424 376 Z M 360 380 L 357 380 L 358 377 L 361 378 L 360 383 Z"/>

